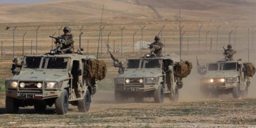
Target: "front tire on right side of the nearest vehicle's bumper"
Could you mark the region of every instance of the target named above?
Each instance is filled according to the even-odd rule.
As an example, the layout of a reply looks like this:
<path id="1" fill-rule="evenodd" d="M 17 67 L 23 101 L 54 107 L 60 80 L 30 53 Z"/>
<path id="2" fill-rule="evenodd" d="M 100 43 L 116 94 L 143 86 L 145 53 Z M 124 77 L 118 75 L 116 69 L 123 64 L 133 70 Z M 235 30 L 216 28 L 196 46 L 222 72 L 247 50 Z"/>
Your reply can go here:
<path id="1" fill-rule="evenodd" d="M 63 90 L 60 97 L 55 100 L 55 109 L 57 114 L 66 114 L 68 112 L 68 92 Z"/>

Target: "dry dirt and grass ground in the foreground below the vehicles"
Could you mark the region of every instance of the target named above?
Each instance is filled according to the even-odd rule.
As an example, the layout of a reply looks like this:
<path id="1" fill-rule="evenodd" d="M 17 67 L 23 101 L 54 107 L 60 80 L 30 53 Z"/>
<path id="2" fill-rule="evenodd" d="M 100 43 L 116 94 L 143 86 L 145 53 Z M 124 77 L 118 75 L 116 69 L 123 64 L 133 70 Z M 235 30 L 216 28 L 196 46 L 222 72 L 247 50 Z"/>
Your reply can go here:
<path id="1" fill-rule="evenodd" d="M 102 96 L 104 95 L 104 97 Z M 43 114 L 35 113 L 33 107 L 20 108 L 18 114 L 6 114 L 5 95 L 1 93 L 0 126 L 21 127 L 255 127 L 256 99 L 205 99 L 204 101 L 154 103 L 114 102 L 113 92 L 94 95 L 90 111 L 79 113 L 69 106 L 67 115 L 57 115 L 53 107 Z"/>

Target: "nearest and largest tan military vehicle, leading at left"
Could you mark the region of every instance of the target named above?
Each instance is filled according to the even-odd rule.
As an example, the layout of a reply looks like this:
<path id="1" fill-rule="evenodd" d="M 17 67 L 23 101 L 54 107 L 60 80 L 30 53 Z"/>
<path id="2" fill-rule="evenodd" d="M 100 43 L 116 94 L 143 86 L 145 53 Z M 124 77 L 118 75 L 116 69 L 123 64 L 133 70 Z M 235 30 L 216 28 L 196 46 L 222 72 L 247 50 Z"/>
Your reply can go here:
<path id="1" fill-rule="evenodd" d="M 89 111 L 91 95 L 106 76 L 105 63 L 82 52 L 57 52 L 14 59 L 14 76 L 5 80 L 7 113 L 18 113 L 19 107 L 26 106 L 42 112 L 55 104 L 57 114 L 66 114 L 69 103 L 78 111 Z"/>

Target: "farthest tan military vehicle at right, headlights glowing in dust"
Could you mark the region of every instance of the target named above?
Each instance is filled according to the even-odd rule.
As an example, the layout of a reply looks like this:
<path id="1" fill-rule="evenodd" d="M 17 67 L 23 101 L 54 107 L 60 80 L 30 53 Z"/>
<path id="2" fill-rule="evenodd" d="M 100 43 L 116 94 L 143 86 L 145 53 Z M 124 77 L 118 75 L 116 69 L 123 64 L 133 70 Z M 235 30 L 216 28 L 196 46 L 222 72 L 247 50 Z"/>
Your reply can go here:
<path id="1" fill-rule="evenodd" d="M 251 84 L 250 77 L 255 73 L 252 63 L 239 60 L 224 59 L 217 62 L 199 65 L 198 73 L 201 74 L 200 90 L 205 96 L 218 98 L 220 94 L 233 94 L 233 98 L 246 97 Z"/>

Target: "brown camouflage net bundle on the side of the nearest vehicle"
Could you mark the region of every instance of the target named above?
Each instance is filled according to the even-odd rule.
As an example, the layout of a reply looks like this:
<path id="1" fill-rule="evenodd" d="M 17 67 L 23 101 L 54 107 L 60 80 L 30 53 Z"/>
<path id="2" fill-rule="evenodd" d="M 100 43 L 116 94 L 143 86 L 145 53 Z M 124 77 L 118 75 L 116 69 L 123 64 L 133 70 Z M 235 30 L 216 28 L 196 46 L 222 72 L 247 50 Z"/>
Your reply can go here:
<path id="1" fill-rule="evenodd" d="M 88 77 L 101 80 L 107 73 L 106 63 L 103 60 L 89 60 L 84 72 Z"/>

